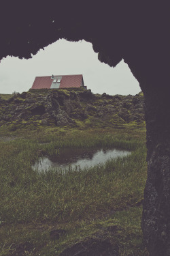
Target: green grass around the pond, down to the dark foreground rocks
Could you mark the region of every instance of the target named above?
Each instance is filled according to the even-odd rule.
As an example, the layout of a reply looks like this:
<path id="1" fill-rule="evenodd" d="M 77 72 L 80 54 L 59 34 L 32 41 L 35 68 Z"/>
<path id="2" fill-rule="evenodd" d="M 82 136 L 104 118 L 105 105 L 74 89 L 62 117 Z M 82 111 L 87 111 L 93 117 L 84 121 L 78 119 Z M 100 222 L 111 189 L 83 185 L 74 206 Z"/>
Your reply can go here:
<path id="1" fill-rule="evenodd" d="M 56 255 L 56 250 L 75 240 L 91 236 L 95 231 L 102 233 L 101 227 L 107 225 L 118 226 L 114 239 L 120 255 L 146 255 L 140 248 L 141 208 L 135 206 L 143 199 L 146 182 L 144 132 L 69 130 L 60 137 L 57 132 L 52 135 L 52 131 L 46 134 L 45 130 L 35 133 L 34 139 L 27 139 L 31 137 L 30 132 L 26 139 L 1 142 L 0 221 L 3 226 L 0 243 L 3 253 L 0 255 L 7 254 L 12 243 L 26 241 L 41 255 Z M 39 145 L 39 141 L 52 143 Z M 31 169 L 39 156 L 57 154 L 56 149 L 60 147 L 108 144 L 133 152 L 85 171 L 70 168 L 64 175 L 53 169 L 44 173 Z M 43 231 L 36 225 L 42 225 Z M 48 235 L 52 225 L 69 230 L 69 235 L 52 242 Z"/>

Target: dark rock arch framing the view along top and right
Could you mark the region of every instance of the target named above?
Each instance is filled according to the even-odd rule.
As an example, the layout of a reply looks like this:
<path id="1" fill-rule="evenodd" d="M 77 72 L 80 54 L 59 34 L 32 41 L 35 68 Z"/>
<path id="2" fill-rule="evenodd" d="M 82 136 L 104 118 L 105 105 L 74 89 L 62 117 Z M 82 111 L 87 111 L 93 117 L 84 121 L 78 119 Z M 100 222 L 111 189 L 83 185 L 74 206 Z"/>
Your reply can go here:
<path id="1" fill-rule="evenodd" d="M 152 256 L 170 255 L 169 17 L 168 1 L 1 1 L 0 59 L 84 39 L 109 66 L 124 59 L 139 81 L 148 147 L 142 229 Z"/>

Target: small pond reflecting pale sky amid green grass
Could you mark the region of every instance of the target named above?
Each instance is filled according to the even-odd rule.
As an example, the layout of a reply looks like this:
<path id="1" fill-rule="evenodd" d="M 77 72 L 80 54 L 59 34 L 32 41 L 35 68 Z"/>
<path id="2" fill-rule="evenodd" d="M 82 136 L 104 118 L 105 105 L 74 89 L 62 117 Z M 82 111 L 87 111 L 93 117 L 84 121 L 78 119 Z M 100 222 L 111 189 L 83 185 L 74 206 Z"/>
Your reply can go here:
<path id="1" fill-rule="evenodd" d="M 55 157 L 44 156 L 39 158 L 32 169 L 35 171 L 48 171 L 51 168 L 59 170 L 84 169 L 105 163 L 110 158 L 127 156 L 128 151 L 111 148 L 75 148 L 60 150 Z"/>

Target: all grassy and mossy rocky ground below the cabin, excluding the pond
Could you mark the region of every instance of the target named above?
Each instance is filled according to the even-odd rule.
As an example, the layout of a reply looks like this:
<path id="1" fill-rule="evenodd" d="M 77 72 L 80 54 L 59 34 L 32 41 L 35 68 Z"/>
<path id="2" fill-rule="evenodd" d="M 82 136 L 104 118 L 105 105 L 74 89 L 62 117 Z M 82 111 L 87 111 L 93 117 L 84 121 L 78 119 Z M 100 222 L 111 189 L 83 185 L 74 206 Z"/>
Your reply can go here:
<path id="1" fill-rule="evenodd" d="M 146 256 L 143 94 L 100 96 L 73 88 L 50 93 L 0 95 L 0 256 L 53 256 L 65 249 L 63 255 L 71 256 L 73 246 L 88 248 L 90 241 L 117 246 L 120 256 Z M 65 122 L 63 114 L 56 126 L 51 113 L 57 108 L 72 120 Z M 68 147 L 115 147 L 131 154 L 85 169 L 32 169 L 39 157 Z"/>

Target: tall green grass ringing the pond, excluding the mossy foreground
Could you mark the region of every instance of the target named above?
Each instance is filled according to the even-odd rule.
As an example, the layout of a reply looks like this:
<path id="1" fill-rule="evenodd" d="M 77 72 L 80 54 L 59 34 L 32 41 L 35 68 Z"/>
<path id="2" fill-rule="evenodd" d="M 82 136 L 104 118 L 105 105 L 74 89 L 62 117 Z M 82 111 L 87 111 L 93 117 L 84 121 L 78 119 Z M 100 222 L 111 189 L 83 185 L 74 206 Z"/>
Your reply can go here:
<path id="1" fill-rule="evenodd" d="M 27 134 L 16 141 L 1 142 L 1 227 L 9 224 L 16 227 L 19 223 L 70 223 L 73 226 L 73 223 L 102 219 L 109 212 L 135 207 L 143 199 L 146 182 L 143 132 L 73 130 L 63 131 L 60 136 L 57 132 L 44 132 L 44 136 L 40 132 L 31 139 Z M 131 154 L 65 173 L 56 169 L 38 173 L 31 168 L 39 156 L 58 154 L 61 147 L 96 146 L 131 150 Z M 4 245 L 5 233 L 2 237 Z M 7 244 L 9 246 L 9 242 Z"/>

